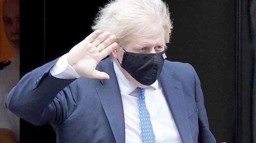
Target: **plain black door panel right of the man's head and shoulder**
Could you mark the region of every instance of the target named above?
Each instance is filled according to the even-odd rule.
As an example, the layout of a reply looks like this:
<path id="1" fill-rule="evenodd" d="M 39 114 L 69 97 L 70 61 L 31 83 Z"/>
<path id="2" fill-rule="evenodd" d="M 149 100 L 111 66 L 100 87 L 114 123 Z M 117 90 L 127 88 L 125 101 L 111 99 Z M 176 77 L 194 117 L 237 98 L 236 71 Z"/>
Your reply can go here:
<path id="1" fill-rule="evenodd" d="M 174 21 L 169 60 L 188 62 L 201 80 L 210 128 L 235 142 L 236 2 L 169 0 Z"/>

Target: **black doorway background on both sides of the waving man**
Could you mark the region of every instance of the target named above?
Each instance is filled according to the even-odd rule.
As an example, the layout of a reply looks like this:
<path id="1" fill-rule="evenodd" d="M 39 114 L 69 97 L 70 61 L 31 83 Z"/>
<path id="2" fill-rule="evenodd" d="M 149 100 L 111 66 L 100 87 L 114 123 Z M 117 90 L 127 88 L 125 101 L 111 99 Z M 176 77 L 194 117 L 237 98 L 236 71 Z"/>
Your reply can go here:
<path id="1" fill-rule="evenodd" d="M 105 1 L 21 1 L 21 76 L 65 54 L 91 31 Z M 174 22 L 168 60 L 188 62 L 202 82 L 218 142 L 249 143 L 252 50 L 248 1 L 167 0 Z M 21 119 L 21 143 L 55 142 L 50 125 Z"/>

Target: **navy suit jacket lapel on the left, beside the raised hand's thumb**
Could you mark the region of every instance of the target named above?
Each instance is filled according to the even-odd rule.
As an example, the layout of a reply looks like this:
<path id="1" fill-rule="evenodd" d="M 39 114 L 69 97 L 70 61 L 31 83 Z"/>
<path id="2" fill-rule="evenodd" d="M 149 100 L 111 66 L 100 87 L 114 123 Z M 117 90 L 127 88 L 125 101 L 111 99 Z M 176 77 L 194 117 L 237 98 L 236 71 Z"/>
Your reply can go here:
<path id="1" fill-rule="evenodd" d="M 124 143 L 125 124 L 120 89 L 114 72 L 113 62 L 110 61 L 109 58 L 104 62 L 103 67 L 105 67 L 105 69 L 103 68 L 99 70 L 109 74 L 110 79 L 101 80 L 103 86 L 96 88 L 96 90 L 108 118 L 116 143 Z"/>

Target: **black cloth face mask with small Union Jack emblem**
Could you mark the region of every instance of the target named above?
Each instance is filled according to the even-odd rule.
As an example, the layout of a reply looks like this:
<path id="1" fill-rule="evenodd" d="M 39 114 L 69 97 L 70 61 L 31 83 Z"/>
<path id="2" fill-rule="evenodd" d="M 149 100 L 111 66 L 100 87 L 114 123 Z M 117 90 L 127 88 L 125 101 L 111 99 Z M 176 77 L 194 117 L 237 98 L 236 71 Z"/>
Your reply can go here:
<path id="1" fill-rule="evenodd" d="M 166 50 L 150 54 L 124 52 L 120 65 L 136 81 L 148 86 L 158 79 L 163 68 L 164 59 L 167 58 L 165 52 Z"/>

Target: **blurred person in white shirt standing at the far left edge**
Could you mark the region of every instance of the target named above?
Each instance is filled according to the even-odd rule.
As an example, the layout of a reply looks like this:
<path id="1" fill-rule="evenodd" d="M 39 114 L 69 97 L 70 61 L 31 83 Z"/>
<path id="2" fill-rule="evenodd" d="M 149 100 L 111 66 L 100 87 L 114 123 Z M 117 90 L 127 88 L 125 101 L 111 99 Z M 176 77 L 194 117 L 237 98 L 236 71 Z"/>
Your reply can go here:
<path id="1" fill-rule="evenodd" d="M 20 118 L 6 107 L 20 79 L 20 1 L 0 0 L 0 143 L 18 143 Z"/>

